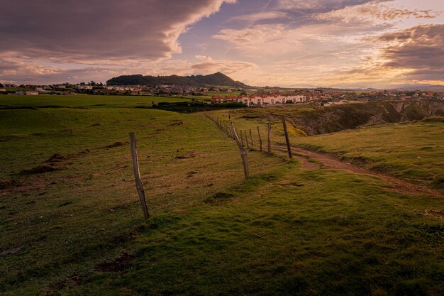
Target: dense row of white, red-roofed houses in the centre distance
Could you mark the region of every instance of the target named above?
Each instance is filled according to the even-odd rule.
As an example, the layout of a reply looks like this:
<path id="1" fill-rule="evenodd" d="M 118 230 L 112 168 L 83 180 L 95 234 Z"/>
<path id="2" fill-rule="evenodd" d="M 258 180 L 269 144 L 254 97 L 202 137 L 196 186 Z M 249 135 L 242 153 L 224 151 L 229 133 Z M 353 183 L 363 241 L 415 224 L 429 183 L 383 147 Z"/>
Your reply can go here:
<path id="1" fill-rule="evenodd" d="M 212 104 L 220 103 L 243 103 L 247 106 L 262 106 L 275 104 L 296 104 L 307 102 L 308 98 L 301 95 L 282 95 L 282 94 L 252 94 L 240 96 L 213 96 Z"/>

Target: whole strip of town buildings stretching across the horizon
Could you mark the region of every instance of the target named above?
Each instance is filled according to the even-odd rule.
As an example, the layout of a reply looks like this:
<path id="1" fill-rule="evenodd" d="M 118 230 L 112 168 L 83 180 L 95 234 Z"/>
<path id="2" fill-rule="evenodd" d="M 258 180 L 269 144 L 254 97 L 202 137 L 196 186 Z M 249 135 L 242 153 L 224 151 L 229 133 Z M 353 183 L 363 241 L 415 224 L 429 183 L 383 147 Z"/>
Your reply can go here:
<path id="1" fill-rule="evenodd" d="M 294 89 L 282 90 L 265 87 L 265 89 L 235 89 L 220 87 L 193 87 L 174 84 L 165 85 L 106 85 L 96 82 L 79 84 L 52 84 L 52 85 L 15 85 L 0 84 L 0 94 L 122 94 L 122 95 L 182 95 L 205 96 L 208 92 L 223 93 L 226 96 L 216 95 L 211 103 L 238 102 L 248 106 L 262 106 L 274 104 L 295 104 L 303 102 L 319 102 L 324 106 L 344 104 L 346 102 L 368 102 L 384 99 L 444 99 L 444 92 L 426 92 L 416 90 L 369 90 L 365 92 L 343 91 L 339 89 Z M 240 92 L 242 95 L 229 95 Z"/>

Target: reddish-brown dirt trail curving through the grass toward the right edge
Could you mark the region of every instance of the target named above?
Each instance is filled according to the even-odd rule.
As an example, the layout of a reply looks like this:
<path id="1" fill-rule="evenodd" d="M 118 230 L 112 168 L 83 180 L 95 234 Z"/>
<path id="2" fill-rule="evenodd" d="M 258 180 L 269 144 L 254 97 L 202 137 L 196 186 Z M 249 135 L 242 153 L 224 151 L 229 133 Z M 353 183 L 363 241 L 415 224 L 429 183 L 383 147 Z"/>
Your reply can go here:
<path id="1" fill-rule="evenodd" d="M 331 170 L 345 170 L 348 172 L 354 172 L 355 174 L 372 175 L 379 177 L 385 182 L 394 186 L 392 190 L 396 192 L 416 193 L 416 194 L 427 193 L 433 195 L 443 195 L 438 191 L 431 190 L 430 188 L 422 187 L 420 185 L 414 185 L 409 182 L 399 180 L 396 177 L 391 177 L 389 175 L 384 175 L 379 172 L 373 172 L 371 170 L 365 170 L 363 168 L 359 168 L 355 165 L 352 165 L 351 163 L 346 163 L 342 160 L 338 160 L 337 158 L 334 158 L 331 155 L 313 152 L 311 150 L 306 150 L 302 148 L 294 148 L 294 150 L 295 152 L 306 156 L 306 158 L 301 156 L 296 156 L 296 158 L 301 161 L 302 168 L 306 170 L 318 169 L 318 168 L 326 168 Z M 315 158 L 316 160 L 319 160 L 322 163 L 322 165 L 318 163 L 312 163 L 309 160 L 307 160 L 307 158 Z"/>

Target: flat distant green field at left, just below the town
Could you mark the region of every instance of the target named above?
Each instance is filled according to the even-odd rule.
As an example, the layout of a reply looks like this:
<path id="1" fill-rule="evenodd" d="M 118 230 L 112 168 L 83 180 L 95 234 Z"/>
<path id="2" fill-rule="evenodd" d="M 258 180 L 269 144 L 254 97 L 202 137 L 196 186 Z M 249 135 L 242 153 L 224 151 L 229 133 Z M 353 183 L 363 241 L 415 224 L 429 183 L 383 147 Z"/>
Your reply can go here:
<path id="1" fill-rule="evenodd" d="M 187 99 L 145 96 L 87 96 L 87 95 L 0 95 L 0 105 L 6 106 L 67 106 L 87 108 L 131 108 L 151 106 L 152 102 L 186 102 Z"/>

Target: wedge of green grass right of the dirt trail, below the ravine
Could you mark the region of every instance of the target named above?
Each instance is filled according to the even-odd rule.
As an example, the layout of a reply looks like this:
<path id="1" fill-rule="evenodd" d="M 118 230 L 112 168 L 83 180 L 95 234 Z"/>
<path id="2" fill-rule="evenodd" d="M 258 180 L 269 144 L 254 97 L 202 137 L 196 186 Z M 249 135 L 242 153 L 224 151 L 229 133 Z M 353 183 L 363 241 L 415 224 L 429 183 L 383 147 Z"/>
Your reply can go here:
<path id="1" fill-rule="evenodd" d="M 444 191 L 444 120 L 359 128 L 294 143 Z"/>

